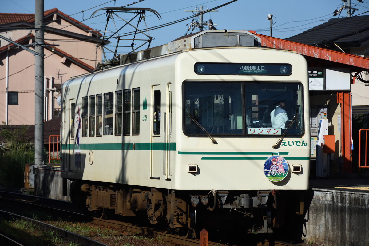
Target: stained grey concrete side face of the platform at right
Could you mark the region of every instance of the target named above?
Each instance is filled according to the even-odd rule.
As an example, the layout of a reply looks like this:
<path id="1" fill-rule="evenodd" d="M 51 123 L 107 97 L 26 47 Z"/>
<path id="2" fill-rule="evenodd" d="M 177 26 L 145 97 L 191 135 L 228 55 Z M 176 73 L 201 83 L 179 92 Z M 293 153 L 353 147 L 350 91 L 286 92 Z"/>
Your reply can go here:
<path id="1" fill-rule="evenodd" d="M 325 246 L 366 246 L 369 193 L 313 189 L 305 215 L 303 241 Z"/>

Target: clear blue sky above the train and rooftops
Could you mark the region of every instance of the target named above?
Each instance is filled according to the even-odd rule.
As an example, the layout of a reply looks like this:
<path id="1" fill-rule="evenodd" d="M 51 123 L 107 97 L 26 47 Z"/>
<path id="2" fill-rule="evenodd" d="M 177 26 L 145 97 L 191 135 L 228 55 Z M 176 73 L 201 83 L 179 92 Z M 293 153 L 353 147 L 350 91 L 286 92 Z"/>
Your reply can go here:
<path id="1" fill-rule="evenodd" d="M 44 10 L 58 8 L 59 11 L 70 15 L 76 20 L 89 27 L 104 33 L 106 28 L 106 11 L 100 10 L 95 14 L 96 17 L 90 18 L 94 11 L 105 7 L 137 7 L 151 8 L 157 11 L 161 19 L 155 14 L 147 11 L 145 21 L 147 27 L 156 27 L 186 17 L 194 17 L 192 12 L 184 10 L 199 10 L 203 6 L 204 10 L 211 9 L 223 4 L 229 3 L 231 0 L 60 0 L 60 1 L 44 1 Z M 135 4 L 132 4 L 136 2 Z M 238 0 L 218 8 L 218 12 L 210 12 L 203 14 L 203 21 L 213 20 L 215 28 L 229 30 L 246 30 L 256 31 L 259 34 L 270 34 L 270 21 L 268 14 L 272 14 L 272 36 L 276 38 L 288 38 L 306 31 L 312 27 L 322 24 L 331 18 L 341 18 L 347 16 L 347 11 L 342 10 L 340 15 L 333 17 L 333 12 L 343 6 L 342 0 Z M 369 14 L 369 0 L 351 0 L 351 6 L 358 8 L 354 15 Z M 1 13 L 35 13 L 35 1 L 33 0 L 3 0 L 0 8 Z M 134 17 L 132 13 L 119 13 L 124 20 L 130 20 Z M 179 38 L 188 31 L 188 25 L 193 18 L 184 20 L 173 25 L 161 27 L 149 31 L 154 40 L 151 47 L 167 44 L 168 42 Z M 114 16 L 115 27 L 119 29 L 125 23 L 119 17 Z M 132 25 L 137 25 L 137 19 L 133 20 Z M 114 23 L 110 20 L 107 26 L 106 36 L 113 34 L 115 31 Z M 144 29 L 143 21 L 139 24 L 139 29 Z M 132 31 L 132 28 L 124 27 L 118 34 L 121 38 L 132 38 L 132 36 L 124 37 L 124 33 Z M 199 31 L 194 29 L 192 32 Z M 138 38 L 144 38 L 143 35 Z M 116 39 L 111 39 L 113 44 Z M 120 41 L 120 45 L 130 45 L 129 41 Z M 137 46 L 143 42 L 135 42 Z M 147 44 L 138 50 L 147 48 Z M 114 48 L 110 48 L 114 49 Z M 131 48 L 120 47 L 118 53 L 128 53 Z"/>

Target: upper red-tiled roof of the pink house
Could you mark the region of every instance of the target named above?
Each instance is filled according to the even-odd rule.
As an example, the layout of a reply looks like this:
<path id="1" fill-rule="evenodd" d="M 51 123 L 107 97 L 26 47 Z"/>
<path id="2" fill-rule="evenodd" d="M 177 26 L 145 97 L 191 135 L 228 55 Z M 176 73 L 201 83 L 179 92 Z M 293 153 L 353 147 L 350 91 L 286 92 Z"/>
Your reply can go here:
<path id="1" fill-rule="evenodd" d="M 70 17 L 67 14 L 64 14 L 62 11 L 59 11 L 57 8 L 52 8 L 49 10 L 44 11 L 44 16 L 48 16 L 54 13 L 58 13 L 61 15 L 65 20 L 73 22 L 75 24 L 81 25 L 83 29 L 87 29 L 93 31 L 95 34 L 102 36 L 100 32 L 94 31 L 94 29 L 90 28 L 89 26 L 77 21 L 75 18 Z M 7 24 L 11 22 L 18 22 L 18 21 L 27 21 L 27 22 L 34 22 L 35 21 L 35 14 L 17 14 L 17 13 L 0 13 L 0 24 Z"/>

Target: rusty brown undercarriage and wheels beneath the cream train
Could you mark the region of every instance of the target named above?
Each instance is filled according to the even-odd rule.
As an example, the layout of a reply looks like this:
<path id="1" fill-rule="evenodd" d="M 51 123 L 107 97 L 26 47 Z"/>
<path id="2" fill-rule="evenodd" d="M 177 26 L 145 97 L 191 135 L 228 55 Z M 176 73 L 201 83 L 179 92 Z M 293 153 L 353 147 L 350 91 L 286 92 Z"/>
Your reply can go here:
<path id="1" fill-rule="evenodd" d="M 77 180 L 70 191 L 74 204 L 100 217 L 107 212 L 146 217 L 152 225 L 188 238 L 198 238 L 204 228 L 272 233 L 283 226 L 288 207 L 292 205 L 293 214 L 303 207 L 296 194 L 275 190 L 182 191 Z"/>

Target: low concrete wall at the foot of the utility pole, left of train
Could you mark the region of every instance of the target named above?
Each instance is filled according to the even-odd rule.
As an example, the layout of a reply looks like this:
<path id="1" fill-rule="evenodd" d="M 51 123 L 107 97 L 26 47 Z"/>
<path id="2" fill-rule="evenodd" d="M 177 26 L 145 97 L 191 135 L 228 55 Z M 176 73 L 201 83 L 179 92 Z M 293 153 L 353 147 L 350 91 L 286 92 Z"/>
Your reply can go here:
<path id="1" fill-rule="evenodd" d="M 35 196 L 70 201 L 70 181 L 67 181 L 67 196 L 63 197 L 63 179 L 60 177 L 60 167 L 34 166 Z"/>

